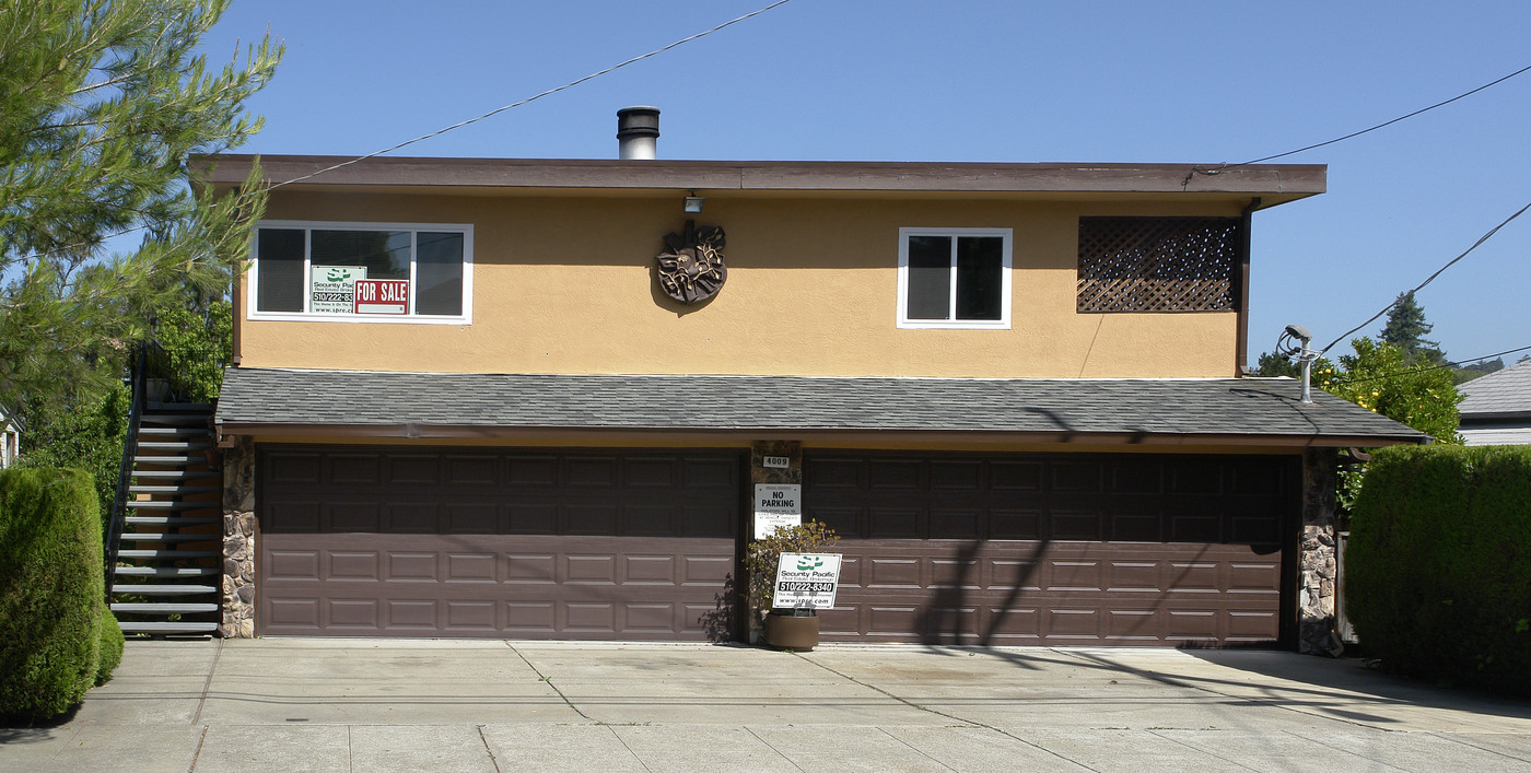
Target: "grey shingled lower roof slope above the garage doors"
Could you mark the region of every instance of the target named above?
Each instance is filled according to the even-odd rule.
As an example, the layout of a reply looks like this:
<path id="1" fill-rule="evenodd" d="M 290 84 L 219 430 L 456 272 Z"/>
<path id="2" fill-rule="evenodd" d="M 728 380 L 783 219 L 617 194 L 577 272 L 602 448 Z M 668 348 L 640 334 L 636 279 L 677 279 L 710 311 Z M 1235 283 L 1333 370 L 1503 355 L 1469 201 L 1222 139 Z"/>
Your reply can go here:
<path id="1" fill-rule="evenodd" d="M 1289 378 L 984 380 L 393 373 L 231 367 L 230 435 L 530 436 L 537 430 L 749 436 L 868 433 L 1038 442 L 1428 442 Z"/>

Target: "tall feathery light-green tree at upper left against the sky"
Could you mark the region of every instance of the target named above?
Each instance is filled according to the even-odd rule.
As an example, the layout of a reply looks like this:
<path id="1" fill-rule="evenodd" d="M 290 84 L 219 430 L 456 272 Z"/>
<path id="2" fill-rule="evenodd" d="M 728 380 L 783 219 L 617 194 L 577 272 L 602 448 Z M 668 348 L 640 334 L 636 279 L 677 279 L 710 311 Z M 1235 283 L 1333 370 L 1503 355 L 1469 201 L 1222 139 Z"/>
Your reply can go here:
<path id="1" fill-rule="evenodd" d="M 266 38 L 208 67 L 194 49 L 228 2 L 0 0 L 0 410 L 29 435 L 40 407 L 107 393 L 156 312 L 222 297 L 248 253 L 259 170 L 199 201 L 187 168 L 259 130 L 243 103 L 282 55 Z M 103 256 L 124 231 L 136 251 Z"/>

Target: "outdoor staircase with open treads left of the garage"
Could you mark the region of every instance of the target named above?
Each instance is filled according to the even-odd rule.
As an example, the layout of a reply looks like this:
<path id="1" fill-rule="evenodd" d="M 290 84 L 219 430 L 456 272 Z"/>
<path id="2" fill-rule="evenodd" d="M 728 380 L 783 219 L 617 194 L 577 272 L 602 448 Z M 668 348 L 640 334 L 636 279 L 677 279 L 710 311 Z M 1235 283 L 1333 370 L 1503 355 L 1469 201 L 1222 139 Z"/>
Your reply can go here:
<path id="1" fill-rule="evenodd" d="M 208 404 L 147 403 L 116 566 L 112 614 L 126 634 L 213 634 L 222 597 L 222 471 L 210 464 Z"/>

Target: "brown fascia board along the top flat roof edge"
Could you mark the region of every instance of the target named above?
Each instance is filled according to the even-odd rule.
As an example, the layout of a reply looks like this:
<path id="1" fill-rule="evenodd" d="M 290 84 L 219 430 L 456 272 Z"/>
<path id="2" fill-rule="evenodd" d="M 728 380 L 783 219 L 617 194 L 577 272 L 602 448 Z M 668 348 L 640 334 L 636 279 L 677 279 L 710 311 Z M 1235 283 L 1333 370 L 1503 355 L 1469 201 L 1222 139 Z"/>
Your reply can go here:
<path id="1" fill-rule="evenodd" d="M 201 184 L 245 182 L 259 158 L 280 184 L 348 156 L 197 156 Z M 1324 193 L 1323 164 L 943 164 L 862 161 L 602 161 L 372 158 L 292 187 L 608 188 L 698 191 L 1193 193 L 1262 197 L 1262 207 Z"/>

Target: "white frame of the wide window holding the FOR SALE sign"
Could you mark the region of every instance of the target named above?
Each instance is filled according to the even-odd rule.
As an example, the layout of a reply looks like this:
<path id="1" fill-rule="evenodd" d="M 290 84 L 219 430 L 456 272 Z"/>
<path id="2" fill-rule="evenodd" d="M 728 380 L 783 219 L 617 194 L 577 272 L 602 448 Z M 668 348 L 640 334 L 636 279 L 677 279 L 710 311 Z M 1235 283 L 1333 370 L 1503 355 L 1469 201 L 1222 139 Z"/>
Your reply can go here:
<path id="1" fill-rule="evenodd" d="M 312 292 L 303 292 L 303 311 L 259 311 L 260 303 L 260 228 L 285 228 L 305 231 L 409 231 L 409 314 L 314 314 L 308 311 Z M 335 222 L 335 220 L 259 220 L 256 237 L 250 243 L 250 271 L 245 272 L 245 308 L 248 320 L 273 321 L 349 321 L 349 323 L 381 323 L 381 325 L 473 325 L 473 225 L 472 223 L 397 223 L 397 222 Z M 416 315 L 415 314 L 415 250 L 419 231 L 461 233 L 462 234 L 462 314 Z M 303 239 L 303 282 L 312 282 L 309 246 L 311 239 Z"/>

